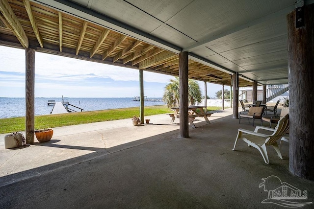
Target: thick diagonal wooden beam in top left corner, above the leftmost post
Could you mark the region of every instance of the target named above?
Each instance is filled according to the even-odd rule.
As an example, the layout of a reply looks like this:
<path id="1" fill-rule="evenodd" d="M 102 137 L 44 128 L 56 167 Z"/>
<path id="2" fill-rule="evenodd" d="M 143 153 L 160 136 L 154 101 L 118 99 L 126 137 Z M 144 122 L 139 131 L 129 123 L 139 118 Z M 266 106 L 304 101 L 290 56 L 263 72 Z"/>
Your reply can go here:
<path id="1" fill-rule="evenodd" d="M 0 12 L 7 21 L 7 26 L 12 30 L 22 46 L 28 48 L 26 33 L 7 0 L 0 0 Z"/>

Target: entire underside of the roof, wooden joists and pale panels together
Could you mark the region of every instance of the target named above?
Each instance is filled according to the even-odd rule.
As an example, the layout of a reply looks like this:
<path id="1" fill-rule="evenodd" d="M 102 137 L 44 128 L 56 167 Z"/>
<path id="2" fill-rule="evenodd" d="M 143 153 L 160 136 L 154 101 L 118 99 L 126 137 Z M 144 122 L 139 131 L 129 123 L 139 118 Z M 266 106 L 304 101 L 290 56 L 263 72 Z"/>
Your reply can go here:
<path id="1" fill-rule="evenodd" d="M 230 85 L 238 72 L 240 86 L 288 83 L 286 16 L 295 0 L 1 1 L 37 51 L 175 76 L 178 53 L 188 51 L 192 79 Z M 6 16 L 0 44 L 21 47 Z"/>

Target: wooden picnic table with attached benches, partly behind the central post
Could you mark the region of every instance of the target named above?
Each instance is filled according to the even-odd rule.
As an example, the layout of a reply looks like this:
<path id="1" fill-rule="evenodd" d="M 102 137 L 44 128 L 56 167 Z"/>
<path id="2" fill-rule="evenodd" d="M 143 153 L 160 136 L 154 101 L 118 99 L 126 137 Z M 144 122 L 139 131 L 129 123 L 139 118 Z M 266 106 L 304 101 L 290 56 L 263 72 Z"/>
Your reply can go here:
<path id="1" fill-rule="evenodd" d="M 213 114 L 213 113 L 211 113 L 211 112 L 205 113 L 205 111 L 204 111 L 205 108 L 206 108 L 206 106 L 189 106 L 188 107 L 188 115 L 189 115 L 188 121 L 193 128 L 196 128 L 196 126 L 193 122 L 196 117 L 204 117 L 206 122 L 210 123 L 208 116 L 211 116 L 211 114 Z M 176 118 L 180 118 L 180 108 L 179 107 L 172 107 L 171 109 L 174 110 L 174 113 L 168 113 L 167 115 L 169 115 L 171 117 L 171 122 L 173 123 Z"/>

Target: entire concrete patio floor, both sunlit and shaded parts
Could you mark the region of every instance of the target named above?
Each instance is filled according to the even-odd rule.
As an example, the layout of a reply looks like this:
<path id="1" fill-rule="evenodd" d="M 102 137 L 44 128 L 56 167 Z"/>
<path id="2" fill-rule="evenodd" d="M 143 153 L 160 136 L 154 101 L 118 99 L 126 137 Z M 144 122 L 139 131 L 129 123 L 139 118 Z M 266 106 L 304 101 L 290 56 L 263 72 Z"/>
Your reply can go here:
<path id="1" fill-rule="evenodd" d="M 271 175 L 307 190 L 307 200 L 291 201 L 314 201 L 314 181 L 288 171 L 288 143 L 283 160 L 267 148 L 270 164 L 243 141 L 232 150 L 237 129 L 254 127 L 231 114 L 200 119 L 188 139 L 164 114 L 138 127 L 124 119 L 53 128 L 51 141 L 15 149 L 0 135 L 0 208 L 279 208 L 262 203 L 259 185 Z"/>

